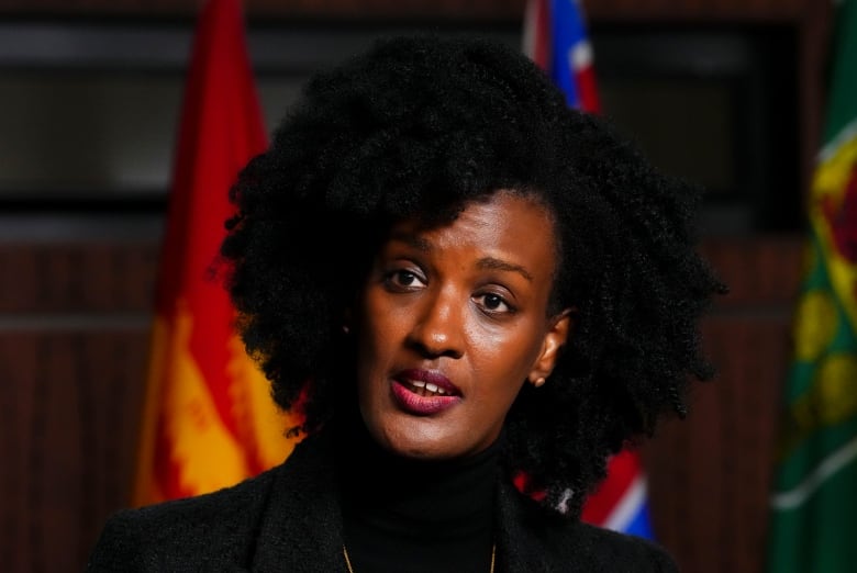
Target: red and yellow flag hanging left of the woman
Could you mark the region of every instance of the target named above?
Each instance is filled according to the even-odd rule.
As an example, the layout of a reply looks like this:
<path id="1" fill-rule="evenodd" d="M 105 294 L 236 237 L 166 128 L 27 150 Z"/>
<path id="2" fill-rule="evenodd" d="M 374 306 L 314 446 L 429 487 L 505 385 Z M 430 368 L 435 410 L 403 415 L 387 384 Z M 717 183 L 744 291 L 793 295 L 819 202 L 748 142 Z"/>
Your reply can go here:
<path id="1" fill-rule="evenodd" d="M 162 247 L 133 503 L 218 490 L 293 443 L 268 383 L 232 328 L 209 269 L 233 212 L 229 189 L 267 147 L 240 0 L 207 0 L 197 24 Z"/>

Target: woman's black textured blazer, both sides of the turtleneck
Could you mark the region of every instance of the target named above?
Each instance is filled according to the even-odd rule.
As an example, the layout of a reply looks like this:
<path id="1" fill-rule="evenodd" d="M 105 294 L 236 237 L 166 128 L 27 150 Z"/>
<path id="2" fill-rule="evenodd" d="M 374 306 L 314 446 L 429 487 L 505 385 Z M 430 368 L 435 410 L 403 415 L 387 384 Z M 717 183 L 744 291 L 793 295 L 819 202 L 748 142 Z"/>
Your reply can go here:
<path id="1" fill-rule="evenodd" d="M 233 487 L 119 512 L 87 571 L 345 573 L 326 441 L 323 432 L 305 438 L 286 463 Z M 498 573 L 677 571 L 656 544 L 548 516 L 507 480 L 497 496 L 496 539 Z"/>

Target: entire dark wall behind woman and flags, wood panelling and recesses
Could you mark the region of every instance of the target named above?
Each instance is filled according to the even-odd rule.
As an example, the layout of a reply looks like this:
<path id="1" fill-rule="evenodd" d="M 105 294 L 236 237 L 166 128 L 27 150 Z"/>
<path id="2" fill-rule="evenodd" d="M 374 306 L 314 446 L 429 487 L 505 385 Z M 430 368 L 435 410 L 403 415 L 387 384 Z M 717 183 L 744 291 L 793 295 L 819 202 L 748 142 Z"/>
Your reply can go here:
<path id="1" fill-rule="evenodd" d="M 0 569 L 73 572 L 127 503 L 183 71 L 200 2 L 0 0 Z M 319 67 L 431 27 L 520 45 L 523 0 L 255 0 L 269 126 Z M 819 0 L 585 2 L 605 113 L 709 190 L 719 367 L 644 450 L 682 571 L 764 569 L 830 30 Z"/>

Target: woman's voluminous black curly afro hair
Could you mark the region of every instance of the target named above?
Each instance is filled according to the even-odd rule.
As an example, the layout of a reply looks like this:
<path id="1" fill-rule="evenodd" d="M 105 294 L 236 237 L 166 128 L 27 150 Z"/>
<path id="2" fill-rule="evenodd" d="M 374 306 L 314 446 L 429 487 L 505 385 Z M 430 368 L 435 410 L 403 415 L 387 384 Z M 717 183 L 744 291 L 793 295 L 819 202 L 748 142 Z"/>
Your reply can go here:
<path id="1" fill-rule="evenodd" d="M 725 288 L 694 248 L 700 190 L 568 109 L 522 54 L 398 37 L 315 76 L 232 189 L 226 286 L 275 401 L 315 431 L 353 385 L 343 316 L 385 232 L 499 189 L 553 212 L 550 311 L 577 310 L 548 383 L 525 384 L 507 417 L 504 465 L 579 516 L 609 454 L 683 416 L 691 381 L 711 378 L 699 319 Z"/>

